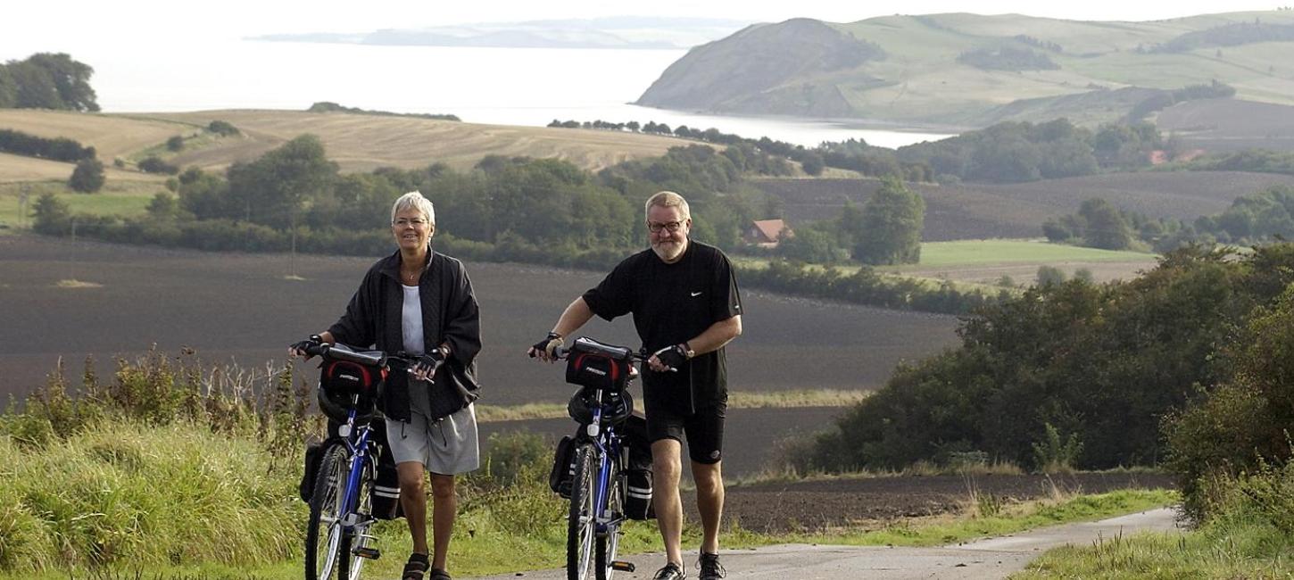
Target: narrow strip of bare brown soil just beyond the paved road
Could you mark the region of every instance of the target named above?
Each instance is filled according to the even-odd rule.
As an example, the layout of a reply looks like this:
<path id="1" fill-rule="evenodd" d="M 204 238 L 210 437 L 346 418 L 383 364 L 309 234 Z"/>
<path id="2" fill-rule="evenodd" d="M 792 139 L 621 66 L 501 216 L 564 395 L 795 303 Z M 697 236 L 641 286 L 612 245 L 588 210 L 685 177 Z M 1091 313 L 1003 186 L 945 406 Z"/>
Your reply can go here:
<path id="1" fill-rule="evenodd" d="M 762 483 L 727 489 L 723 517 L 757 532 L 814 532 L 842 526 L 880 528 L 901 518 L 954 514 L 969 504 L 968 487 L 1007 501 L 1051 495 L 1052 483 L 1068 492 L 1104 493 L 1128 488 L 1172 488 L 1159 474 L 1095 473 L 1073 475 L 960 475 L 828 479 Z M 685 498 L 687 519 L 696 505 Z"/>

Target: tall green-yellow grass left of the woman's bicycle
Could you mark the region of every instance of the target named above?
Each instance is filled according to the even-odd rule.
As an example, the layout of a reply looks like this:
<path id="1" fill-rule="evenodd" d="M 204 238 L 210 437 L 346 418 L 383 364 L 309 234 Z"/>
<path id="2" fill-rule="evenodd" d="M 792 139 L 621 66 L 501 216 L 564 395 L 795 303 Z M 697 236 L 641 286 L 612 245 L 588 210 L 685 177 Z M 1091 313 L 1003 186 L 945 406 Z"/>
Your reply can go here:
<path id="1" fill-rule="evenodd" d="M 0 416 L 0 571 L 252 564 L 300 553 L 311 391 L 192 352 L 87 359 Z"/>

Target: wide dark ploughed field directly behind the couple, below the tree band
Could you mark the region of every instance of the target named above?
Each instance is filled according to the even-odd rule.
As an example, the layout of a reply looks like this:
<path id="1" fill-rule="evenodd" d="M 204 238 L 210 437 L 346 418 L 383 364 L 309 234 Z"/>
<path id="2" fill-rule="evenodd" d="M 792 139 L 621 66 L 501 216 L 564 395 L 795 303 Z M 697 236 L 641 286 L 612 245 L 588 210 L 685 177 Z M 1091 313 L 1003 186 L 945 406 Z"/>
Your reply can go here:
<path id="1" fill-rule="evenodd" d="M 62 356 L 74 375 L 93 353 L 193 347 L 207 361 L 282 361 L 286 344 L 342 313 L 375 258 L 206 254 L 155 247 L 0 237 L 0 396 L 39 386 Z M 565 401 L 560 369 L 524 356 L 597 272 L 468 264 L 483 308 L 485 401 Z M 56 287 L 61 280 L 100 287 Z M 870 390 L 901 360 L 958 342 L 956 317 L 744 293 L 745 334 L 729 351 L 734 388 Z M 629 320 L 591 322 L 589 335 L 637 344 Z M 302 364 L 305 372 L 312 365 Z"/>

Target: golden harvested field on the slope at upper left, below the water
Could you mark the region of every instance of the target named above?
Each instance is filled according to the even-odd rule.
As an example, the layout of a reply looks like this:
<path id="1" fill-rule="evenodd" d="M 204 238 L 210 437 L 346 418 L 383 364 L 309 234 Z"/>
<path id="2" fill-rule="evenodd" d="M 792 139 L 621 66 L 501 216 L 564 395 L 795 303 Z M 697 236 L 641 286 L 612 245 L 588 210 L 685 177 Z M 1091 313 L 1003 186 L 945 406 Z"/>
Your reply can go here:
<path id="1" fill-rule="evenodd" d="M 380 166 L 426 167 L 443 162 L 466 170 L 483 157 L 556 157 L 587 170 L 599 170 L 626 159 L 656 157 L 682 140 L 655 135 L 617 133 L 542 127 L 507 127 L 406 117 L 375 117 L 345 113 L 302 113 L 282 110 L 223 110 L 166 114 L 102 115 L 48 110 L 0 109 L 0 128 L 41 137 L 69 137 L 94 146 L 98 158 L 138 161 L 175 135 L 198 135 L 211 120 L 233 123 L 242 135 L 195 140 L 179 154 L 168 155 L 173 164 L 204 170 L 228 167 L 236 161 L 254 159 L 302 133 L 314 133 L 327 148 L 329 158 L 342 171 L 370 171 Z M 44 175 L 45 164 L 32 159 L 25 173 Z M 0 181 L 13 180 L 5 163 Z M 54 163 L 63 166 L 62 163 Z M 61 179 L 71 172 L 66 164 Z M 137 175 L 137 173 L 136 173 Z M 110 176 L 111 179 L 111 176 Z"/>

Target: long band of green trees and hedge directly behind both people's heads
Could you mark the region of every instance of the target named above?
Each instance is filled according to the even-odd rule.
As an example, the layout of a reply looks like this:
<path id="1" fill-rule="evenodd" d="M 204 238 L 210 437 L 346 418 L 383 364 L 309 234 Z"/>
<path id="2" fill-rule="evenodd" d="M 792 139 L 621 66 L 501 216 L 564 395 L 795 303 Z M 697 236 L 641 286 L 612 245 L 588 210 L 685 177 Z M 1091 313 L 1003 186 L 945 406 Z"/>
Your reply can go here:
<path id="1" fill-rule="evenodd" d="M 782 211 L 776 197 L 751 188 L 743 176 L 783 171 L 779 163 L 785 162 L 741 144 L 723 151 L 688 145 L 598 173 L 558 159 L 492 155 L 467 172 L 436 163 L 343 175 L 317 137 L 302 136 L 259 159 L 234 163 L 224 175 L 182 171 L 170 181 L 172 190 L 158 193 L 140 218 L 78 215 L 54 195 L 43 195 L 34 206 L 34 229 L 214 251 L 295 247 L 379 255 L 391 246 L 386 228 L 391 203 L 418 189 L 436 203 L 436 245 L 443 251 L 470 260 L 606 268 L 641 249 L 642 203 L 660 189 L 687 195 L 696 240 L 741 251 L 745 227 Z M 858 260 L 915 260 L 923 207 L 920 197 L 889 180 L 862 210 L 824 228 Z M 813 228 L 805 232 L 814 237 Z M 793 240 L 787 241 L 791 247 Z M 998 299 L 951 285 L 928 287 L 881 277 L 866 268 L 842 276 L 775 262 L 741 276 L 757 287 L 933 312 L 964 313 Z"/>

